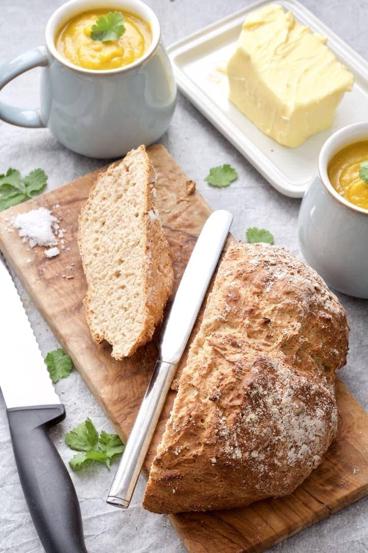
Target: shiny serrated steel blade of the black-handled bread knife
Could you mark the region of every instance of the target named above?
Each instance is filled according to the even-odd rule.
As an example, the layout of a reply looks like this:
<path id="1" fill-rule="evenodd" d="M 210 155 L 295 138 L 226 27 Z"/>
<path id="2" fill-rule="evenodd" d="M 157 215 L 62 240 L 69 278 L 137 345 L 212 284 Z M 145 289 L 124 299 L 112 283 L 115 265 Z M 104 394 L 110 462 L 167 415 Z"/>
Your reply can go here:
<path id="1" fill-rule="evenodd" d="M 7 408 L 60 403 L 17 288 L 0 254 L 0 388 Z"/>

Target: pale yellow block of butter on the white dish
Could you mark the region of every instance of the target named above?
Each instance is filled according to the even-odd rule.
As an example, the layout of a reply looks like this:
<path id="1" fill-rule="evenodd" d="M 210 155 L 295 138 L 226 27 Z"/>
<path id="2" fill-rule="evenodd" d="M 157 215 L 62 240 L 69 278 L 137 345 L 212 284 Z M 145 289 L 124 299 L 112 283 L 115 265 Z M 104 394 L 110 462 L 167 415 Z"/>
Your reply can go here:
<path id="1" fill-rule="evenodd" d="M 280 144 L 296 147 L 332 124 L 353 75 L 326 46 L 326 38 L 269 4 L 243 23 L 227 64 L 229 98 Z"/>

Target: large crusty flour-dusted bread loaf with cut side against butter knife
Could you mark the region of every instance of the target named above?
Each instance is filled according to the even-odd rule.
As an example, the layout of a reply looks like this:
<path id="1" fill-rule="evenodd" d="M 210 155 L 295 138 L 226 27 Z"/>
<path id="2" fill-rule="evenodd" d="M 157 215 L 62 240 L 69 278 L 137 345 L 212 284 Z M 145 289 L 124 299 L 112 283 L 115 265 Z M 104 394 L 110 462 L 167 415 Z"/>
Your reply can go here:
<path id="1" fill-rule="evenodd" d="M 232 244 L 217 272 L 151 467 L 156 513 L 291 493 L 337 432 L 345 311 L 284 248 Z"/>

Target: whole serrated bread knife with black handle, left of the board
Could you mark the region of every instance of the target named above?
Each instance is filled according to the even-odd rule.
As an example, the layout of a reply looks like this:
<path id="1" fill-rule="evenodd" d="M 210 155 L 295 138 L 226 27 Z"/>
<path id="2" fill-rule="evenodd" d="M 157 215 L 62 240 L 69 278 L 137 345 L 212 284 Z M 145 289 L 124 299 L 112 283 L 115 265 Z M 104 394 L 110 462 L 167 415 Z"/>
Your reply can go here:
<path id="1" fill-rule="evenodd" d="M 76 491 L 47 434 L 65 408 L 1 254 L 0 290 L 0 387 L 29 512 L 46 553 L 87 553 Z"/>

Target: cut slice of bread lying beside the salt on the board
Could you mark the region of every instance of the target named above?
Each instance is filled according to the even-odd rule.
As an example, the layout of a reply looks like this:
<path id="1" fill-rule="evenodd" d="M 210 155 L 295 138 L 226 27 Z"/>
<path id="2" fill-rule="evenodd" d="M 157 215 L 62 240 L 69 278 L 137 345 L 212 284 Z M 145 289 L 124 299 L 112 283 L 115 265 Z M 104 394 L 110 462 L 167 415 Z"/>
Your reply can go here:
<path id="1" fill-rule="evenodd" d="M 151 340 L 172 289 L 154 184 L 153 165 L 140 146 L 99 175 L 79 216 L 87 322 L 95 342 L 113 346 L 115 359 Z"/>

